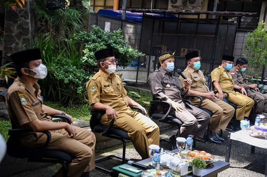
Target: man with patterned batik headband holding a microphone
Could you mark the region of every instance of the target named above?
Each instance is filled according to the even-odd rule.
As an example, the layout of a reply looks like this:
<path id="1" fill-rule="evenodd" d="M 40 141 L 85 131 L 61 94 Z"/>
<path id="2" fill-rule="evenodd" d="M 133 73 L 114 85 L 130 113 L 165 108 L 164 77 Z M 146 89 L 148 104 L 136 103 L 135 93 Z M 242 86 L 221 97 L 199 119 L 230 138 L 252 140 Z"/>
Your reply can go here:
<path id="1" fill-rule="evenodd" d="M 159 57 L 160 68 L 149 75 L 150 89 L 157 100 L 171 103 L 171 116 L 179 118 L 183 125 L 181 126 L 181 136 L 187 138 L 189 134 L 204 136 L 207 125 L 210 121 L 210 115 L 201 109 L 187 104 L 183 98 L 188 93 L 188 88 L 192 84 L 190 78 L 184 79 L 184 87 L 180 88 L 176 77 L 172 75 L 174 69 L 174 56 L 167 52 Z M 163 108 L 158 111 L 163 113 Z M 176 147 L 176 135 L 170 137 L 172 148 Z"/>

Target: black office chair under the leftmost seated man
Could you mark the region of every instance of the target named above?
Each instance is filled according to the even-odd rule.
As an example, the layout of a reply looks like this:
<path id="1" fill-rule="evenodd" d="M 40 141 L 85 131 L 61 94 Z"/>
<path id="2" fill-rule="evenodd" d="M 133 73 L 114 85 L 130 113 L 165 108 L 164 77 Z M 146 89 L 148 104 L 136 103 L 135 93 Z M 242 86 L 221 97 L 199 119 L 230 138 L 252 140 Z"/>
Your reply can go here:
<path id="1" fill-rule="evenodd" d="M 1 91 L 0 95 L 5 101 L 5 95 L 7 90 Z M 52 115 L 52 118 L 62 118 L 69 124 L 71 119 L 65 115 Z M 47 141 L 44 146 L 39 148 L 27 148 L 19 143 L 19 135 L 21 133 L 33 132 L 30 129 L 19 129 L 11 121 L 12 129 L 8 131 L 10 135 L 7 141 L 7 154 L 15 158 L 27 158 L 28 162 L 46 162 L 46 163 L 60 163 L 64 167 L 64 176 L 67 177 L 67 163 L 72 162 L 73 157 L 60 150 L 48 149 L 48 145 L 51 140 L 51 134 L 49 131 L 43 131 L 47 135 Z"/>

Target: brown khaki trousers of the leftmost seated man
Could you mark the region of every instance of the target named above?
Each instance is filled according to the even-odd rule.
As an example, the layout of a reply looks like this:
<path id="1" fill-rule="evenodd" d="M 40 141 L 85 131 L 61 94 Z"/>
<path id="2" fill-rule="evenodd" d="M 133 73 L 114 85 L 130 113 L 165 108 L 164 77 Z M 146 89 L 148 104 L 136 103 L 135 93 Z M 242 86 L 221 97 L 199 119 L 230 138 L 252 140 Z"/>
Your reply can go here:
<path id="1" fill-rule="evenodd" d="M 68 177 L 81 177 L 83 172 L 95 168 L 95 134 L 80 127 L 75 127 L 75 129 L 77 133 L 75 139 L 71 138 L 65 129 L 50 131 L 51 141 L 48 148 L 62 150 L 74 157 L 72 162 L 67 164 Z M 38 141 L 34 142 L 32 147 L 43 145 L 47 136 L 44 133 L 38 133 L 37 139 Z M 63 177 L 63 174 L 63 167 L 61 167 L 55 177 Z"/>

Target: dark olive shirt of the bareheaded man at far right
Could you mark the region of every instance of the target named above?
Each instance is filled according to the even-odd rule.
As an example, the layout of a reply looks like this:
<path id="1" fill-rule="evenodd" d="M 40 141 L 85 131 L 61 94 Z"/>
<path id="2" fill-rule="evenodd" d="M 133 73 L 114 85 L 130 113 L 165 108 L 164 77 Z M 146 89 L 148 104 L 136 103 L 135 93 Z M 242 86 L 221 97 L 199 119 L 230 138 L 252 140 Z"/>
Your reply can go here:
<path id="1" fill-rule="evenodd" d="M 244 72 L 240 72 L 238 69 L 236 69 L 236 66 L 233 67 L 231 70 L 231 72 L 234 72 L 233 75 L 233 80 L 234 80 L 234 84 L 238 85 L 238 86 L 244 86 L 244 88 L 246 89 L 250 89 L 250 82 L 249 80 L 246 78 Z M 255 91 L 254 89 L 250 89 L 251 91 Z"/>

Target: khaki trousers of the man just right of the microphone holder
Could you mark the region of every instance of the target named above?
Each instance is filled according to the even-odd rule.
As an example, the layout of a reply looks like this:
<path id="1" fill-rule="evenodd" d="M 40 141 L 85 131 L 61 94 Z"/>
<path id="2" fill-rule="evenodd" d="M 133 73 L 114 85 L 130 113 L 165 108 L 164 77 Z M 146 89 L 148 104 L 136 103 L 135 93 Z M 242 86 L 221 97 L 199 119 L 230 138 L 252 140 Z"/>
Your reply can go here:
<path id="1" fill-rule="evenodd" d="M 192 100 L 192 104 L 197 106 L 199 101 Z M 221 101 L 220 99 L 203 99 L 201 108 L 207 109 L 212 112 L 210 119 L 210 131 L 218 133 L 218 129 L 225 130 L 228 123 L 234 116 L 234 107 Z"/>

